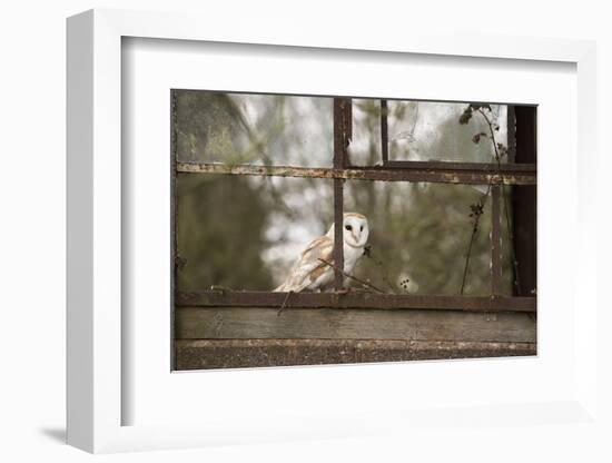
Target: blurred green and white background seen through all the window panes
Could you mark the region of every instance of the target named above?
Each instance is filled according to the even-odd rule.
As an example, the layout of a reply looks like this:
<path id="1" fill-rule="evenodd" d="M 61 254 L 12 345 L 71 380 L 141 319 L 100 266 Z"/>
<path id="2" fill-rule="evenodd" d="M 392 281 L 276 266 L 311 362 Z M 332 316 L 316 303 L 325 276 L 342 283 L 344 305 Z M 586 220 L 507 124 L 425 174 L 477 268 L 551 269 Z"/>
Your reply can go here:
<path id="1" fill-rule="evenodd" d="M 330 167 L 333 99 L 174 90 L 179 161 Z M 389 101 L 389 157 L 402 160 L 491 162 L 486 125 L 458 118 L 467 104 Z M 353 100 L 351 160 L 381 162 L 379 100 Z M 506 108 L 492 106 L 506 144 Z M 504 159 L 505 161 L 505 159 Z M 485 187 L 351 180 L 345 210 L 369 221 L 372 257 L 354 274 L 389 293 L 458 294 L 472 235 L 470 206 Z M 509 191 L 510 193 L 510 191 Z M 491 201 L 473 246 L 464 294 L 490 294 Z M 304 246 L 333 221 L 332 180 L 314 178 L 177 175 L 179 290 L 270 290 Z M 511 294 L 506 225 L 503 293 Z M 408 280 L 408 283 L 406 283 Z"/>

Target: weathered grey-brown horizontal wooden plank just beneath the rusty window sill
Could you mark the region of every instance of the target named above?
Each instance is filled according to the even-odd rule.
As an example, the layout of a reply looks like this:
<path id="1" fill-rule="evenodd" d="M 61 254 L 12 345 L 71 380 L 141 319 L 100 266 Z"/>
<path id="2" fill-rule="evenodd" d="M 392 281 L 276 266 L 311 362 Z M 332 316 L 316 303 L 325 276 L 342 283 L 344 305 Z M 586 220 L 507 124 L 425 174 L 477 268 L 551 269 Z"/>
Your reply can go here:
<path id="1" fill-rule="evenodd" d="M 175 317 L 177 339 L 535 342 L 533 317 L 520 313 L 178 307 Z"/>

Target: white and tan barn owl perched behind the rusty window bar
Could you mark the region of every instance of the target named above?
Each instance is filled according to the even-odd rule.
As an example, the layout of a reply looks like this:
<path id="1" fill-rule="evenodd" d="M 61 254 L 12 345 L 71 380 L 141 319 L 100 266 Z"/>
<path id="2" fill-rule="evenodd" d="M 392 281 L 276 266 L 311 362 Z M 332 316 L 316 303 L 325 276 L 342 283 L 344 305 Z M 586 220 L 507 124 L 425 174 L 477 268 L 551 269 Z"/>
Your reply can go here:
<path id="1" fill-rule="evenodd" d="M 356 213 L 344 215 L 344 273 L 351 274 L 364 255 L 369 235 L 367 219 Z M 325 236 L 312 240 L 302 252 L 289 276 L 275 292 L 299 293 L 303 289 L 322 290 L 334 282 L 334 268 L 323 260 L 334 263 L 334 225 Z"/>

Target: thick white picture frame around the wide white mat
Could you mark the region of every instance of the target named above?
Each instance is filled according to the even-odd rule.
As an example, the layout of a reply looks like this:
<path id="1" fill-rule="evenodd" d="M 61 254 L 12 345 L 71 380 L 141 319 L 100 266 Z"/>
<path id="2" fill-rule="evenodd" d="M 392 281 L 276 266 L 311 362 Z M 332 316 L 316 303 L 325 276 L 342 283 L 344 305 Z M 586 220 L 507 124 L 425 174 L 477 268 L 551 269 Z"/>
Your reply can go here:
<path id="1" fill-rule="evenodd" d="M 203 27 L 206 24 L 206 27 Z M 274 37 L 269 39 L 267 37 Z M 126 425 L 125 408 L 136 397 L 135 391 L 125 387 L 128 374 L 122 361 L 130 344 L 129 332 L 121 307 L 126 298 L 122 275 L 122 201 L 130 181 L 122 173 L 121 110 L 124 104 L 121 81 L 122 38 L 184 40 L 200 42 L 249 43 L 251 46 L 307 47 L 314 56 L 317 50 L 369 50 L 371 56 L 388 52 L 426 56 L 476 57 L 488 60 L 521 60 L 529 67 L 533 61 L 560 61 L 576 67 L 578 75 L 578 147 L 576 157 L 576 229 L 573 258 L 574 304 L 580 298 L 578 323 L 572 327 L 569 348 L 574 361 L 566 368 L 567 377 L 575 381 L 572 387 L 552 394 L 551 401 L 542 395 L 529 396 L 519 403 L 495 403 L 494 396 L 483 403 L 465 400 L 455 407 L 440 410 L 411 405 L 404 410 L 372 406 L 356 410 L 354 414 L 340 414 L 334 408 L 322 413 L 313 408 L 310 414 L 296 412 L 286 422 L 261 422 L 254 411 L 220 414 L 204 418 L 201 423 L 177 422 Z M 593 42 L 455 35 L 433 36 L 419 32 L 393 32 L 367 35 L 355 31 L 312 33 L 306 27 L 268 30 L 261 37 L 256 24 L 248 21 L 240 28 L 227 29 L 223 21 L 187 14 L 145 13 L 118 10 L 91 10 L 68 20 L 68 443 L 89 452 L 120 452 L 154 449 L 177 449 L 214 445 L 219 443 L 276 442 L 299 439 L 355 437 L 359 435 L 394 434 L 401 436 L 409 430 L 423 433 L 435 427 L 453 433 L 458 423 L 477 430 L 483 425 L 522 426 L 536 430 L 537 424 L 565 425 L 572 430 L 591 432 L 602 430 L 596 402 L 596 242 L 592 210 L 595 178 L 595 47 Z M 235 88 L 231 88 L 235 90 Z M 590 115 L 580 117 L 580 115 Z M 589 120 L 589 124 L 586 124 Z M 572 138 L 570 138 L 572 139 Z M 573 191 L 573 190 L 572 190 Z M 572 203 L 574 204 L 574 203 Z M 542 205 L 540 204 L 539 207 Z M 572 216 L 573 217 L 573 216 Z M 540 294 L 539 294 L 540 296 Z M 540 297 L 539 297 L 540 298 Z M 575 307 L 574 307 L 575 308 Z M 540 313 L 540 307 L 539 307 Z M 125 315 L 125 314 L 124 314 Z M 169 317 L 168 317 L 169 326 Z M 168 331 L 169 332 L 169 331 Z M 167 344 L 166 344 L 167 346 Z M 473 361 L 475 362 L 475 361 Z M 456 365 L 456 364 L 455 364 Z M 491 362 L 488 367 L 503 368 L 505 364 Z M 559 366 L 559 365 L 557 365 Z M 482 366 L 478 366 L 482 367 Z M 532 365 L 536 367 L 536 365 Z M 367 367 L 352 370 L 325 367 L 294 370 L 294 376 L 314 377 L 317 372 L 342 376 L 372 374 Z M 450 366 L 453 368 L 453 366 Z M 456 368 L 456 367 L 455 367 Z M 559 366 L 563 368 L 563 366 Z M 285 373 L 268 370 L 264 375 L 241 371 L 225 376 L 229 381 L 254 381 L 265 390 L 275 381 L 284 381 Z M 314 372 L 314 373 L 313 373 Z M 382 371 L 379 371 L 382 372 Z M 386 370 L 386 374 L 399 375 L 399 371 Z M 452 372 L 450 370 L 448 372 Z M 447 373 L 448 373 L 447 372 Z M 458 372 L 458 371 L 457 371 Z M 210 383 L 215 373 L 206 373 Z M 318 374 L 318 373 L 317 373 Z M 437 374 L 444 374 L 443 371 Z M 177 376 L 167 372 L 169 376 Z M 196 373 L 197 375 L 197 373 Z M 309 376 L 308 376 L 309 375 Z M 179 375 L 180 382 L 195 381 L 194 375 Z M 200 376 L 201 377 L 201 376 Z M 401 377 L 401 376 L 398 376 Z M 526 378 L 525 378 L 526 380 Z M 176 381 L 175 381 L 176 383 Z M 220 383 L 219 383 L 220 384 Z M 470 381 L 465 386 L 470 385 Z M 151 384 L 164 391 L 161 386 Z M 166 390 L 167 393 L 168 390 Z M 223 390 L 221 390 L 223 391 Z M 397 394 L 396 390 L 388 393 Z M 159 401 L 171 397 L 159 396 Z M 218 397 L 223 400 L 223 397 Z M 458 404 L 458 405 L 457 405 Z M 152 406 L 152 405 L 149 405 Z M 460 408 L 457 408 L 460 406 Z M 274 408 L 274 406 L 272 406 Z M 276 406 L 279 408 L 279 406 Z M 274 415 L 274 413 L 272 413 Z M 236 418 L 241 418 L 239 422 Z M 361 417 L 361 418 L 356 418 Z M 128 420 L 130 421 L 130 420 Z M 384 424 L 382 424 L 384 423 Z M 598 427 L 600 426 L 600 427 Z M 537 427 L 540 430 L 540 427 Z M 477 431 L 476 431 L 477 432 Z M 425 431 L 426 434 L 426 431 Z M 399 437 L 398 437 L 399 439 Z M 551 433 L 542 439 L 554 442 Z"/>

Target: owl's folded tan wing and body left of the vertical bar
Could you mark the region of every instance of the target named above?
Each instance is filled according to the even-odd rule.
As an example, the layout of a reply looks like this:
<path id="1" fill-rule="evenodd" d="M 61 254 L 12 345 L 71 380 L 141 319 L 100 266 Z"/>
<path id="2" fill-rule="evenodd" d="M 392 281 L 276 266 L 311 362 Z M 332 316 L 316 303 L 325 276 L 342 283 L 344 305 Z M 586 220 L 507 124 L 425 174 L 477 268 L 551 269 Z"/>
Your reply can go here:
<path id="1" fill-rule="evenodd" d="M 327 236 L 322 236 L 314 239 L 304 249 L 294 265 L 292 273 L 275 292 L 294 292 L 299 293 L 316 279 L 323 275 L 326 270 L 329 270 L 329 266 L 320 259 L 334 263 L 334 240 Z"/>

